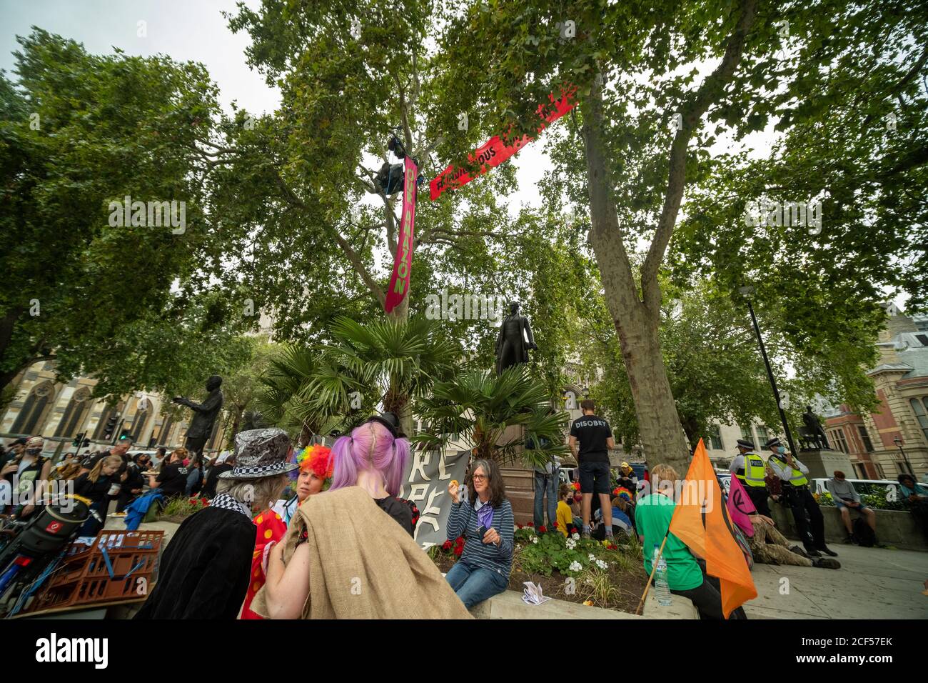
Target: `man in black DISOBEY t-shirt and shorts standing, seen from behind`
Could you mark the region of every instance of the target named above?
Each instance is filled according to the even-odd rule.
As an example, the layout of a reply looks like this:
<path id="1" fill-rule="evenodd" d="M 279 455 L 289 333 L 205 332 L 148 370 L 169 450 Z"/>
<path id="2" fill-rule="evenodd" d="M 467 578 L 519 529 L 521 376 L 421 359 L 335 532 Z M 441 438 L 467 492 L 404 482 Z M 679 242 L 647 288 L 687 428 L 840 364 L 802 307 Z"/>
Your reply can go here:
<path id="1" fill-rule="evenodd" d="M 580 466 L 580 493 L 583 495 L 580 509 L 583 513 L 583 537 L 589 538 L 589 515 L 593 493 L 599 496 L 602 522 L 606 537 L 612 538 L 612 503 L 609 471 L 609 450 L 615 448 L 609 423 L 596 414 L 596 404 L 589 399 L 580 403 L 583 417 L 571 425 L 570 446 Z M 577 442 L 579 441 L 579 448 Z"/>

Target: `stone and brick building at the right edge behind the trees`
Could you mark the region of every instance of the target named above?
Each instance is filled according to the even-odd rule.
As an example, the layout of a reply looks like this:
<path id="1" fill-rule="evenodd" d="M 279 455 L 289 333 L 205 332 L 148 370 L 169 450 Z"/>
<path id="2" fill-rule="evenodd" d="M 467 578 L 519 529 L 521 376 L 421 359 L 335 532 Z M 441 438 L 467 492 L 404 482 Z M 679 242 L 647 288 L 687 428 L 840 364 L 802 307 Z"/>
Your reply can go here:
<path id="1" fill-rule="evenodd" d="M 868 371 L 879 408 L 860 415 L 846 405 L 825 423 L 832 445 L 850 456 L 857 479 L 916 479 L 928 471 L 928 319 L 887 304 L 880 360 Z M 850 474 L 850 473 L 848 473 Z"/>

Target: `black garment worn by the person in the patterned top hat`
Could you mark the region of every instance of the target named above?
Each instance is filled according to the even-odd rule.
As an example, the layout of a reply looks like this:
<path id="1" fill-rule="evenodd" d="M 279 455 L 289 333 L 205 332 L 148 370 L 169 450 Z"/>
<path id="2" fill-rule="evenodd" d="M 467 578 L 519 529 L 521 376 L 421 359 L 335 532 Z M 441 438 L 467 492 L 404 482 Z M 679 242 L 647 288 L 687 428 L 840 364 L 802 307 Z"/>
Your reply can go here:
<path id="1" fill-rule="evenodd" d="M 185 519 L 135 619 L 235 619 L 248 592 L 256 536 L 251 519 L 235 510 L 207 507 Z"/>

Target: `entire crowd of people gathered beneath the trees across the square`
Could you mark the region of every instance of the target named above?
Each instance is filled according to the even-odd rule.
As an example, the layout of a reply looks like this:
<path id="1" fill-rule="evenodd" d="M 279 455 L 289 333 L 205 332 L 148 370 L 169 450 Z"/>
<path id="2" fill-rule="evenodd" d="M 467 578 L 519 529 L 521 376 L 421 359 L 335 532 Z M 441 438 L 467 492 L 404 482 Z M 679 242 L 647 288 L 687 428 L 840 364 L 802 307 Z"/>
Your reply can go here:
<path id="1" fill-rule="evenodd" d="M 680 473 L 653 466 L 653 488 L 638 496 L 638 477 L 628 463 L 613 481 L 609 423 L 596 414 L 593 401 L 581 407 L 569 440 L 579 464 L 579 491 L 560 483 L 557 460 L 535 467 L 535 526 L 544 524 L 547 512 L 548 525 L 565 535 L 609 541 L 627 534 L 644 548 L 663 545 L 670 591 L 690 598 L 703 618 L 722 618 L 717 579 L 669 531 Z M 294 449 L 277 428 L 241 432 L 234 453 L 209 460 L 184 448 L 171 453 L 161 448 L 154 459 L 146 453 L 130 457 L 132 440 L 122 438 L 107 451 L 84 457 L 65 453 L 53 466 L 42 454 L 44 445 L 35 436 L 15 440 L 0 453 L 0 485 L 12 490 L 43 480 L 72 480 L 73 493 L 88 499 L 97 513 L 80 535 L 102 528 L 113 501 L 122 512 L 147 497 L 162 505 L 179 496 L 210 499 L 210 506 L 189 516 L 167 545 L 160 580 L 137 619 L 467 617 L 468 608 L 509 584 L 514 517 L 496 462 L 473 460 L 464 482 L 448 484 L 446 536 L 449 541 L 463 537 L 465 544 L 443 576 L 414 540 L 419 509 L 398 497 L 410 445 L 393 414 L 371 417 L 331 449 L 320 444 Z M 767 462 L 752 443 L 739 440 L 730 466 L 754 508 L 748 538 L 738 532 L 749 566 L 756 561 L 840 568 L 832 559 L 837 553 L 825 543 L 808 467 L 780 440 L 765 445 Z M 928 490 L 908 475 L 899 483 L 902 499 L 924 523 Z M 860 529 L 851 512 L 875 540 L 875 515 L 844 473 L 834 472 L 827 487 L 847 540 L 856 539 Z M 770 501 L 790 509 L 802 547 L 791 545 L 777 529 Z M 39 505 L 36 500 L 4 511 L 29 519 Z M 649 573 L 652 561 L 645 552 Z M 366 599 L 354 599 L 359 595 Z M 745 615 L 736 610 L 729 618 Z"/>

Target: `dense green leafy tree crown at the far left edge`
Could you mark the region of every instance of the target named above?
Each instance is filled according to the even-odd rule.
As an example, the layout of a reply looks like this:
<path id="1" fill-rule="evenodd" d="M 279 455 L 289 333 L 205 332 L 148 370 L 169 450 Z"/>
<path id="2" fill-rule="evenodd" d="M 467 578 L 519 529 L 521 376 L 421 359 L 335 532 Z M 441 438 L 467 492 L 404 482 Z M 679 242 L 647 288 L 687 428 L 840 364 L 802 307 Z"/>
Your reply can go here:
<path id="1" fill-rule="evenodd" d="M 40 29 L 18 40 L 17 80 L 0 73 L 0 387 L 42 360 L 106 383 L 119 367 L 97 353 L 174 309 L 172 283 L 186 288 L 210 243 L 187 148 L 206 135 L 216 90 L 195 64 L 90 55 Z M 183 225 L 177 204 L 158 205 L 161 221 L 133 209 L 126 224 L 110 203 L 127 195 L 185 203 Z"/>

